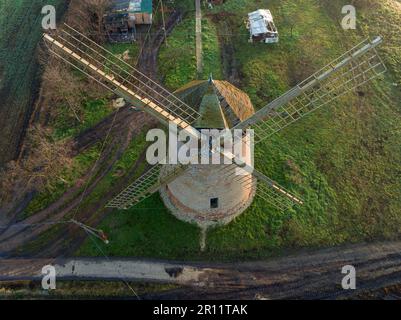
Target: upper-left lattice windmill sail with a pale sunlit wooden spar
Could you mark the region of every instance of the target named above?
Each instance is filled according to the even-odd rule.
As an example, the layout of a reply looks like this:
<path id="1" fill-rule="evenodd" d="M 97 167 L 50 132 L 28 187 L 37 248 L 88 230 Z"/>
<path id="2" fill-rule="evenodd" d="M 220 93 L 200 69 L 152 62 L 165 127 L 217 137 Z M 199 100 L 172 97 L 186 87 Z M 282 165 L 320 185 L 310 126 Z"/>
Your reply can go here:
<path id="1" fill-rule="evenodd" d="M 186 128 L 199 117 L 167 89 L 67 24 L 54 35 L 44 34 L 44 40 L 57 57 L 164 123 Z"/>

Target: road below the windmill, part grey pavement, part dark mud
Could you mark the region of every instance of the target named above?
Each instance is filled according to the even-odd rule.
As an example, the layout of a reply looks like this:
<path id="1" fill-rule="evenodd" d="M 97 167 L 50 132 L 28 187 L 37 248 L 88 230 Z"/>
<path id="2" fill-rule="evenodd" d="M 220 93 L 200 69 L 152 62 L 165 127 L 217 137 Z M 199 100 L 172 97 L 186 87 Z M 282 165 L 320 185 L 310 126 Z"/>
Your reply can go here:
<path id="1" fill-rule="evenodd" d="M 330 299 L 401 283 L 401 241 L 305 251 L 268 261 L 175 263 L 136 259 L 3 260 L 0 279 L 40 277 L 56 265 L 61 279 L 156 281 L 180 289 L 144 299 Z M 357 289 L 343 290 L 342 267 L 356 269 Z"/>

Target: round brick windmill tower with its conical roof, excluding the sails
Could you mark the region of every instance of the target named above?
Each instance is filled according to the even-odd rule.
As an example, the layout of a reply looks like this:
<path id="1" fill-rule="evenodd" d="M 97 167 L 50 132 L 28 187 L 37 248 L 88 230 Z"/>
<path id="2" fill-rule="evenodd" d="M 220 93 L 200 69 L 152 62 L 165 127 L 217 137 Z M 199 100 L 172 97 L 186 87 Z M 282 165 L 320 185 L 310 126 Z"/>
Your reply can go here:
<path id="1" fill-rule="evenodd" d="M 197 130 L 229 129 L 255 113 L 249 96 L 227 81 L 193 81 L 174 94 L 198 110 L 199 118 L 193 124 Z M 244 141 L 243 147 L 242 156 L 249 163 L 251 146 Z M 226 174 L 229 169 L 230 165 L 224 164 L 192 165 L 162 186 L 160 195 L 170 212 L 181 220 L 203 228 L 229 223 L 250 206 L 256 191 L 255 179 L 247 186 L 239 184 L 235 176 Z"/>

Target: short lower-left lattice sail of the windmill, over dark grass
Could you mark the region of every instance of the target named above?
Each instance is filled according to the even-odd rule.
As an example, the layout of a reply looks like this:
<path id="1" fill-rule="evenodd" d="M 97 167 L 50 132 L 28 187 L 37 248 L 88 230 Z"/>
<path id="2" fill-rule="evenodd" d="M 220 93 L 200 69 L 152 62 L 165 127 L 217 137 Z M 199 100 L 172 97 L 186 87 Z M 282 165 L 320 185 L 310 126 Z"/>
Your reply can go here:
<path id="1" fill-rule="evenodd" d="M 162 165 L 151 167 L 145 174 L 111 200 L 106 207 L 127 210 L 157 192 L 187 169 L 186 166 L 170 166 L 161 178 Z"/>

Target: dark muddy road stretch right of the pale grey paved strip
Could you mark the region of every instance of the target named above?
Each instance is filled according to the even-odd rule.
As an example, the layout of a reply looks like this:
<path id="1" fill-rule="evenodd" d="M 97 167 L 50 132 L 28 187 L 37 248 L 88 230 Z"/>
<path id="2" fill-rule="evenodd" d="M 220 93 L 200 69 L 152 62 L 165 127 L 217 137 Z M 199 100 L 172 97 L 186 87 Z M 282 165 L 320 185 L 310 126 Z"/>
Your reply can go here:
<path id="1" fill-rule="evenodd" d="M 208 266 L 200 286 L 149 299 L 334 299 L 401 282 L 401 242 L 330 248 L 267 262 Z M 357 290 L 343 290 L 345 265 L 356 268 Z"/>

